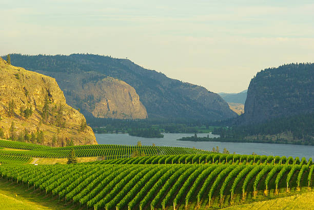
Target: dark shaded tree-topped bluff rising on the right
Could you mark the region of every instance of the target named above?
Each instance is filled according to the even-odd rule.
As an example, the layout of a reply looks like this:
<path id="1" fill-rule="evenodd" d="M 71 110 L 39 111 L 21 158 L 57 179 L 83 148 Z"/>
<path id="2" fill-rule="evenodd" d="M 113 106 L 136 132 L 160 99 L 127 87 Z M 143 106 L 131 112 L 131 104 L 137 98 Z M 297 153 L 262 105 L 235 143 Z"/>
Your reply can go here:
<path id="1" fill-rule="evenodd" d="M 265 69 L 247 91 L 244 123 L 314 111 L 314 64 Z"/>

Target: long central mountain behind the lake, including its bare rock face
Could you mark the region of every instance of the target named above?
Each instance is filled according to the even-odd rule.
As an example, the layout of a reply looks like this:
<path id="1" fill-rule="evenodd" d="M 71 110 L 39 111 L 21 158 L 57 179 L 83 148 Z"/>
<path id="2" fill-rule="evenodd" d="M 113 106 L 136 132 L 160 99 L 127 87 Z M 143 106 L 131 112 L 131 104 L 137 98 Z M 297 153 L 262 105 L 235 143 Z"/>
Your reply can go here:
<path id="1" fill-rule="evenodd" d="M 11 62 L 27 70 L 55 77 L 70 106 L 81 109 L 86 116 L 134 119 L 145 118 L 146 111 L 149 118 L 167 119 L 224 120 L 237 116 L 218 94 L 201 86 L 168 78 L 161 72 L 142 68 L 128 59 L 93 54 L 11 54 Z M 134 91 L 130 95 L 129 90 L 124 91 L 119 86 L 121 92 L 113 94 L 113 90 L 102 82 L 106 78 L 124 81 L 136 93 Z M 104 84 L 102 88 L 92 88 L 99 82 Z M 97 93 L 92 89 L 97 89 Z M 134 101 L 137 94 L 139 101 Z M 130 105 L 119 110 L 117 106 L 110 105 L 114 97 L 121 99 L 120 104 L 127 101 Z M 106 101 L 101 101 L 102 98 L 106 98 Z M 141 103 L 146 110 L 141 108 Z M 97 106 L 99 109 L 95 110 Z M 128 107 L 138 112 L 138 115 L 132 116 Z"/>

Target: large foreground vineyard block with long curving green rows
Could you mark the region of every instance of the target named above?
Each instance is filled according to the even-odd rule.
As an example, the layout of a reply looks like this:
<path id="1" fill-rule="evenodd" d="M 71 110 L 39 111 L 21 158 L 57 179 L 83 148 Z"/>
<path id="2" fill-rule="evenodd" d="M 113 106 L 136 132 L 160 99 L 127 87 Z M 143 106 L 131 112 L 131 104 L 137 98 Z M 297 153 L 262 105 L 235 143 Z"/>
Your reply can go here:
<path id="1" fill-rule="evenodd" d="M 105 162 L 105 161 L 103 161 Z M 300 164 L 3 164 L 3 179 L 94 209 L 180 205 L 228 206 L 311 187 L 311 162 Z M 276 187 L 274 187 L 276 186 Z"/>

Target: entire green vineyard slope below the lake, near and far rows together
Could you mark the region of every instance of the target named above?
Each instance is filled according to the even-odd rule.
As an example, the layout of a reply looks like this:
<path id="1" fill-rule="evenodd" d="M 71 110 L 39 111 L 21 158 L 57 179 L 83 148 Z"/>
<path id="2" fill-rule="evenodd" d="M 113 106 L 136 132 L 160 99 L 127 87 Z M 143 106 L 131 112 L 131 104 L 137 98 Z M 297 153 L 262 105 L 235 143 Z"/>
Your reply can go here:
<path id="1" fill-rule="evenodd" d="M 41 195 L 38 205 L 45 206 L 48 199 L 58 206 L 52 208 L 119 210 L 236 207 L 302 195 L 312 191 L 314 178 L 312 160 L 299 157 L 231 155 L 162 146 L 31 148 L 31 145 L 24 143 L 21 146 L 19 142 L 1 143 L 2 148 L 8 146 L 25 150 L 28 147 L 29 151 L 0 152 L 0 161 L 3 161 L 0 165 L 0 184 L 8 185 L 7 189 L 12 189 L 12 193 L 16 188 L 27 192 L 20 197 Z M 72 148 L 77 153 L 114 150 L 114 155 L 108 160 L 77 164 L 33 165 L 27 164 L 29 160 L 18 159 L 30 158 L 31 154 L 51 154 L 51 151 L 63 154 Z M 128 152 L 129 149 L 144 151 L 145 156 L 125 157 L 132 153 L 132 150 Z M 3 157 L 12 158 L 5 162 L 1 159 Z M 7 198 L 8 195 L 0 192 L 0 196 Z M 11 198 L 5 199 L 7 205 L 15 202 Z M 34 201 L 27 199 L 25 202 Z"/>

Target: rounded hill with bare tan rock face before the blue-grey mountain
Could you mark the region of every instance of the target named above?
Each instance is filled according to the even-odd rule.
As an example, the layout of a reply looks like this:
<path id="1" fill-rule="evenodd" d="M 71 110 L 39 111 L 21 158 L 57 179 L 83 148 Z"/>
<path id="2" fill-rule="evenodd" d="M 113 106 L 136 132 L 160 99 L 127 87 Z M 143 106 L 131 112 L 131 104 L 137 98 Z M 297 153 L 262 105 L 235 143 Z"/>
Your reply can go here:
<path id="1" fill-rule="evenodd" d="M 147 118 L 139 95 L 124 81 L 94 71 L 75 74 L 37 72 L 54 77 L 69 105 L 81 109 L 85 115 L 116 119 Z"/>

